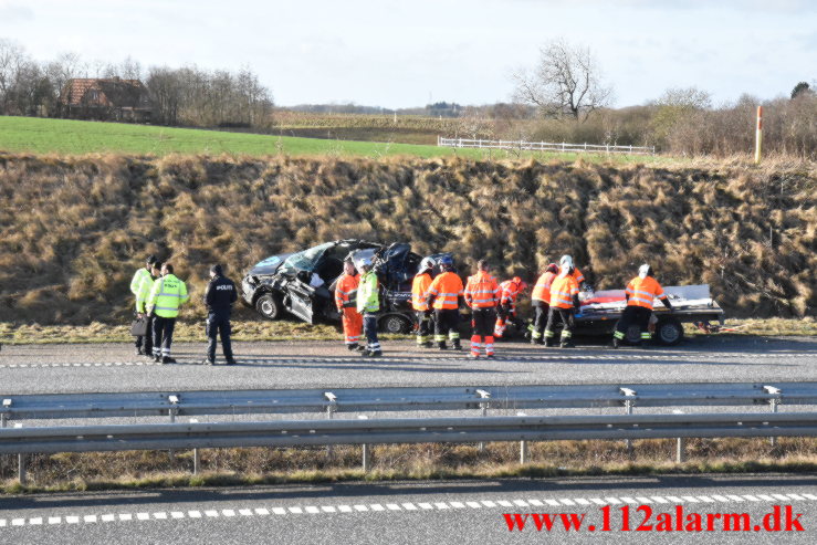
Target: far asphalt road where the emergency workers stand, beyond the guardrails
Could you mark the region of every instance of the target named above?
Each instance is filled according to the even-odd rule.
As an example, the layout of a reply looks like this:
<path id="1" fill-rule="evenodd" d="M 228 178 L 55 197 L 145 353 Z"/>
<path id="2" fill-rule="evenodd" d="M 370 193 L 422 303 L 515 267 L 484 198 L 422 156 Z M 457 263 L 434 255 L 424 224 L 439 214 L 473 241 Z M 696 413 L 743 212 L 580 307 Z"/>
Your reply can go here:
<path id="1" fill-rule="evenodd" d="M 203 343 L 174 345 L 179 363 L 164 366 L 134 356 L 129 344 L 4 345 L 0 394 L 817 380 L 815 337 L 695 337 L 649 350 L 507 343 L 495 360 L 383 344 L 384 357 L 367 359 L 339 343 L 237 343 L 240 365 L 231 367 L 199 365 Z"/>

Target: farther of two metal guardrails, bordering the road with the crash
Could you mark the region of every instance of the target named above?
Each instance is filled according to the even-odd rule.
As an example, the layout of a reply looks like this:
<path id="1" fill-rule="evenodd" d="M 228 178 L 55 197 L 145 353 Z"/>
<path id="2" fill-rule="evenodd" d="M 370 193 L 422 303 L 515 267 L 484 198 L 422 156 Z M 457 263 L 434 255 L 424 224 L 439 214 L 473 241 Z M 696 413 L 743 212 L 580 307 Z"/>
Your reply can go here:
<path id="1" fill-rule="evenodd" d="M 817 405 L 817 382 L 689 382 L 0 395 L 27 419 L 468 409 Z"/>

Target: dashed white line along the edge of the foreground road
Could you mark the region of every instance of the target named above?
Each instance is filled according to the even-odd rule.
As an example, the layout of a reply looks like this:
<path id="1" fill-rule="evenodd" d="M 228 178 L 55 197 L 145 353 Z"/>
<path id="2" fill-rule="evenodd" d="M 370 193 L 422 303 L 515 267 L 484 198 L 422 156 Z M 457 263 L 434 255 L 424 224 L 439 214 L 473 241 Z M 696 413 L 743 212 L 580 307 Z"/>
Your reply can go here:
<path id="1" fill-rule="evenodd" d="M 155 513 L 119 513 L 118 515 L 115 515 L 113 513 L 105 513 L 105 514 L 86 514 L 86 515 L 67 515 L 67 516 L 33 516 L 30 518 L 24 517 L 15 517 L 11 520 L 7 518 L 0 518 L 0 528 L 9 528 L 9 527 L 21 527 L 21 526 L 42 526 L 46 522 L 49 525 L 59 525 L 59 524 L 97 524 L 97 523 L 112 523 L 112 522 L 129 522 L 129 521 L 179 521 L 179 520 L 186 520 L 186 518 L 203 518 L 203 517 L 210 517 L 210 518 L 233 518 L 237 516 L 240 517 L 251 517 L 251 516 L 269 516 L 270 513 L 274 513 L 276 515 L 285 515 L 285 516 L 292 516 L 292 515 L 316 515 L 316 514 L 324 514 L 324 513 L 388 513 L 394 511 L 447 511 L 447 510 L 464 510 L 464 509 L 511 509 L 511 510 L 519 510 L 519 509 L 526 509 L 531 506 L 535 507 L 542 507 L 542 506 L 549 506 L 549 507 L 561 507 L 564 509 L 565 506 L 568 507 L 577 507 L 577 506 L 588 506 L 588 505 L 619 505 L 619 504 L 648 504 L 648 503 L 675 503 L 680 504 L 683 502 L 688 503 L 740 503 L 740 502 L 769 502 L 769 503 L 789 503 L 789 502 L 804 502 L 804 501 L 817 501 L 817 495 L 809 494 L 809 493 L 799 493 L 799 494 L 743 494 L 743 495 L 736 495 L 736 494 L 713 494 L 711 496 L 706 495 L 685 495 L 685 496 L 608 496 L 605 499 L 601 497 L 561 497 L 558 500 L 556 499 L 515 499 L 515 500 L 480 500 L 480 501 L 467 501 L 467 502 L 458 502 L 458 501 L 449 501 L 449 502 L 433 502 L 433 503 L 412 503 L 412 502 L 406 502 L 406 503 L 387 503 L 387 504 L 380 504 L 380 503 L 371 503 L 371 504 L 355 504 L 355 505 L 292 505 L 289 507 L 255 507 L 255 509 L 249 509 L 249 507 L 241 507 L 241 509 L 221 509 L 221 510 L 207 510 L 203 512 L 198 510 L 192 511 L 171 511 L 171 512 L 165 512 L 165 511 L 158 511 Z"/>

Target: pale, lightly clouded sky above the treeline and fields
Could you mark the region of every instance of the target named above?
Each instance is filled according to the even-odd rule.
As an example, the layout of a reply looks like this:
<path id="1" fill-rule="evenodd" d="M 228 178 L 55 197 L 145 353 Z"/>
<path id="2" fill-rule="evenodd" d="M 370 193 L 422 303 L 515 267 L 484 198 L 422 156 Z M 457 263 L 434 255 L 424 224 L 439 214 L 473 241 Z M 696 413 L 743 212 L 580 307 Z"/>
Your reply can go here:
<path id="1" fill-rule="evenodd" d="M 616 106 L 817 80 L 811 0 L 0 0 L 0 38 L 38 60 L 249 65 L 280 105 L 509 101 L 511 74 L 557 38 L 594 51 Z"/>

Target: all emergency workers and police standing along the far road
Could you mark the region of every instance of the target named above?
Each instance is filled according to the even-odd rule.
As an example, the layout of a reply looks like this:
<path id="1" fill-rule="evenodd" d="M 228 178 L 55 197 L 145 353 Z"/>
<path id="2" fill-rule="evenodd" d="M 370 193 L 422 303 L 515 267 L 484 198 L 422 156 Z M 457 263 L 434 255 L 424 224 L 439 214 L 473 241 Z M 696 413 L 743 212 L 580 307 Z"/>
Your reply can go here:
<path id="1" fill-rule="evenodd" d="M 436 268 L 439 269 L 437 275 Z M 528 329 L 532 344 L 554 346 L 557 326 L 561 325 L 558 346 L 575 346 L 573 332 L 575 318 L 582 316 L 578 295 L 584 283 L 585 277 L 570 255 L 563 255 L 558 264 L 549 263 L 545 268 L 531 293 L 533 316 Z M 342 315 L 346 347 L 365 357 L 381 356 L 383 348 L 377 338 L 380 290 L 371 256 L 360 256 L 355 261 L 349 255 L 335 286 L 335 305 Z M 451 349 L 461 350 L 460 308 L 467 306 L 471 310 L 470 356 L 479 358 L 484 350 L 486 358 L 493 358 L 495 340 L 505 335 L 509 324 L 521 323 L 517 303 L 526 289 L 527 283 L 520 276 L 497 283 L 485 260 L 478 261 L 476 272 L 463 284 L 450 255 L 436 261 L 425 258 L 411 284 L 418 348 L 436 346 L 448 350 L 450 343 Z M 179 310 L 190 298 L 187 285 L 174 274 L 172 264 L 161 263 L 149 255 L 145 266 L 134 274 L 130 291 L 136 297 L 137 321 L 146 322 L 146 333 L 136 336 L 136 354 L 151 357 L 159 364 L 176 363 L 170 349 Z M 641 265 L 638 275 L 627 284 L 625 296 L 627 306 L 612 335 L 610 346 L 614 348 L 619 347 L 632 325 L 639 327 L 642 345 L 650 339 L 648 326 L 654 298 L 672 310 L 669 297 L 648 264 Z M 224 275 L 220 264 L 212 265 L 203 296 L 208 311 L 205 328 L 208 346 L 202 364 L 216 364 L 219 337 L 226 365 L 235 364 L 230 340 L 230 314 L 235 301 L 235 283 Z"/>

